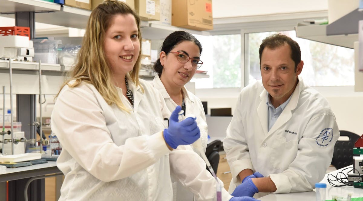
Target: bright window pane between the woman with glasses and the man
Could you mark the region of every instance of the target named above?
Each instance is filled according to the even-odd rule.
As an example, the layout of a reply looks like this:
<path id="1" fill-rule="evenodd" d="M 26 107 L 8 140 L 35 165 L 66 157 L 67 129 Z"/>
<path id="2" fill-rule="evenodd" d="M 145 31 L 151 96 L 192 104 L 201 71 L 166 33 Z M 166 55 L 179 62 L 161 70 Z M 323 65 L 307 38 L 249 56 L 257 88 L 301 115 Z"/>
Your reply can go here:
<path id="1" fill-rule="evenodd" d="M 198 70 L 208 71 L 209 78 L 193 78 L 196 88 L 241 87 L 241 35 L 196 36 L 204 62 Z"/>

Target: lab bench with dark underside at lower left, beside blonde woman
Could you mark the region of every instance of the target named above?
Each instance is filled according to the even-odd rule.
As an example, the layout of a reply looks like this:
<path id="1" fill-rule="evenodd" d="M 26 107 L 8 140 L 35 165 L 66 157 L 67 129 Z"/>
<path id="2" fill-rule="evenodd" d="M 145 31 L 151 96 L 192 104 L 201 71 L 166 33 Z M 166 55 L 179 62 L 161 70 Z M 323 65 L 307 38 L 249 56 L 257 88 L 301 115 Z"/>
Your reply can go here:
<path id="1" fill-rule="evenodd" d="M 6 200 L 6 181 L 9 181 L 9 200 L 24 201 L 24 187 L 29 179 L 57 173 L 62 172 L 58 169 L 55 161 L 0 170 L 0 200 Z M 56 190 L 59 192 L 59 189 L 60 186 Z M 30 197 L 28 197 L 29 201 L 45 201 L 44 179 L 32 181 L 29 185 L 28 192 L 30 192 Z"/>

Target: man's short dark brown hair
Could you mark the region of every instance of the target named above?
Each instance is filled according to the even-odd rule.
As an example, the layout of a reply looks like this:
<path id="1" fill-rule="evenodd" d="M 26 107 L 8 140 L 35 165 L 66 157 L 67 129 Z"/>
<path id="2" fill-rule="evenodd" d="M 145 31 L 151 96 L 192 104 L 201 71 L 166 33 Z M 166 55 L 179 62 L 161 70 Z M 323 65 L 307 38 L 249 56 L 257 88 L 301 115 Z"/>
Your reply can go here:
<path id="1" fill-rule="evenodd" d="M 258 53 L 260 54 L 260 68 L 262 51 L 264 51 L 265 47 L 273 50 L 285 44 L 289 45 L 291 48 L 291 59 L 293 59 L 293 61 L 295 62 L 296 71 L 297 65 L 301 62 L 300 46 L 296 41 L 286 35 L 282 35 L 281 33 L 270 35 L 269 37 L 262 40 L 260 49 L 258 50 Z"/>

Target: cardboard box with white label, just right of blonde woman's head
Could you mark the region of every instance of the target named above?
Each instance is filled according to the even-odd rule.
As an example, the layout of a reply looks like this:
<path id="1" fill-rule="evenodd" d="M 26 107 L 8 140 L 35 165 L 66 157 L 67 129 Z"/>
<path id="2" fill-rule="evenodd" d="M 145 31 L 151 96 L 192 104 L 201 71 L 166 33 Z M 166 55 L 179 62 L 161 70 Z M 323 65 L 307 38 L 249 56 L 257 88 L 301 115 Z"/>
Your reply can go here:
<path id="1" fill-rule="evenodd" d="M 160 20 L 160 0 L 135 0 L 135 10 L 141 20 Z"/>

